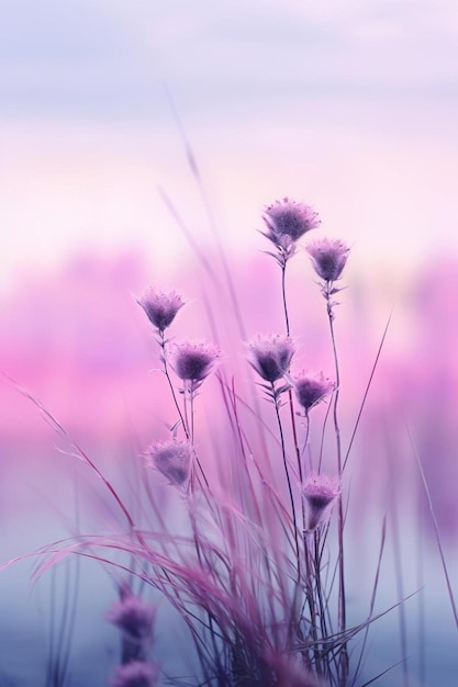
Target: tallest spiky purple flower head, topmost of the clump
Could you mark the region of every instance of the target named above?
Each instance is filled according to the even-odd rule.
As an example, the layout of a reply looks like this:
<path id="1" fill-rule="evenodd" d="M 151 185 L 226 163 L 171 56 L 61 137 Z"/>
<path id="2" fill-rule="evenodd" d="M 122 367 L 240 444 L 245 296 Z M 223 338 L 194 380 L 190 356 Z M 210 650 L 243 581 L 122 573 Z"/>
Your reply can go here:
<path id="1" fill-rule="evenodd" d="M 310 205 L 288 198 L 268 205 L 264 222 L 267 226 L 265 236 L 288 255 L 292 255 L 294 244 L 301 236 L 321 224 L 319 214 Z"/>

